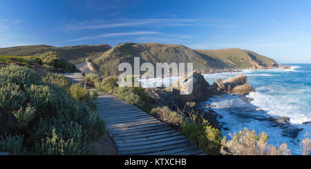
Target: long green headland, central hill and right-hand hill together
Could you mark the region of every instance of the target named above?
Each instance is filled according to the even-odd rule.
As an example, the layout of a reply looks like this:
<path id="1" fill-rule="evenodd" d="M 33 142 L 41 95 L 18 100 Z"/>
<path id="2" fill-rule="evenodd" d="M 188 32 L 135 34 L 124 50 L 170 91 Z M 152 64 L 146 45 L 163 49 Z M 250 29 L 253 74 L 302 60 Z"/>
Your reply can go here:
<path id="1" fill-rule="evenodd" d="M 201 72 L 222 72 L 236 68 L 276 68 L 281 66 L 273 59 L 249 50 L 192 50 L 182 45 L 160 43 L 120 43 L 93 60 L 100 74 L 117 75 L 122 62 L 131 63 L 133 57 L 140 57 L 140 63 L 192 62 L 194 70 Z"/>

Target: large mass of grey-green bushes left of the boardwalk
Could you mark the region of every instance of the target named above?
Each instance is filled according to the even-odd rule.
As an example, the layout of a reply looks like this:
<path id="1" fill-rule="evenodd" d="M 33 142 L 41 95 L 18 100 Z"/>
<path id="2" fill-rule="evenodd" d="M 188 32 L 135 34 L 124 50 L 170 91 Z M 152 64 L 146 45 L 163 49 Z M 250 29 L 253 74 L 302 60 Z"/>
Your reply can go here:
<path id="1" fill-rule="evenodd" d="M 2 113 L 11 120 L 0 119 L 0 149 L 14 154 L 90 155 L 95 153 L 91 143 L 105 132 L 104 121 L 85 101 L 19 66 L 0 68 Z"/>

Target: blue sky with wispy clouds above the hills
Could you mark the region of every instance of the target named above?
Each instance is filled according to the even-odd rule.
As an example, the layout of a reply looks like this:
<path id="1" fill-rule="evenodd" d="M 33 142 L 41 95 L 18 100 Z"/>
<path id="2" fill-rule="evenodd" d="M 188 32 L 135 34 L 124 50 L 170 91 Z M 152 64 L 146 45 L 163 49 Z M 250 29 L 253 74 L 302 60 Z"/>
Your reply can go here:
<path id="1" fill-rule="evenodd" d="M 311 63 L 311 1 L 0 0 L 0 48 L 173 43 Z"/>

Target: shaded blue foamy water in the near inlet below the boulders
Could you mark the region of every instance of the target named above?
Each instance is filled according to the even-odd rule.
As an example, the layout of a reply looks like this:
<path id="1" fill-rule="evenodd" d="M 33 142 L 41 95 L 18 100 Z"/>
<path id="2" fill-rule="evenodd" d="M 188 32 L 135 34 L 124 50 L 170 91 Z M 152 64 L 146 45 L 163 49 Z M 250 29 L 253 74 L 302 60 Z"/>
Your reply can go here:
<path id="1" fill-rule="evenodd" d="M 256 132 L 264 131 L 267 132 L 270 137 L 270 144 L 276 146 L 281 143 L 288 143 L 288 147 L 292 150 L 292 154 L 299 155 L 299 147 L 296 146 L 298 141 L 290 137 L 283 137 L 281 128 L 272 127 L 269 121 L 243 118 L 243 116 L 239 116 L 239 114 L 251 113 L 243 111 L 240 112 L 238 111 L 239 109 L 251 110 L 256 107 L 245 103 L 239 98 L 238 95 L 215 96 L 212 97 L 210 101 L 207 101 L 207 103 L 211 103 L 211 106 L 214 106 L 214 110 L 218 113 L 218 115 L 221 115 L 221 118 L 218 117 L 218 121 L 223 128 L 223 130 L 221 130 L 223 136 L 230 139 L 230 132 L 238 132 L 239 130 L 244 130 L 244 128 L 249 128 L 250 130 L 255 129 Z M 256 113 L 254 115 L 256 115 Z M 224 128 L 227 128 L 227 130 L 224 130 Z"/>

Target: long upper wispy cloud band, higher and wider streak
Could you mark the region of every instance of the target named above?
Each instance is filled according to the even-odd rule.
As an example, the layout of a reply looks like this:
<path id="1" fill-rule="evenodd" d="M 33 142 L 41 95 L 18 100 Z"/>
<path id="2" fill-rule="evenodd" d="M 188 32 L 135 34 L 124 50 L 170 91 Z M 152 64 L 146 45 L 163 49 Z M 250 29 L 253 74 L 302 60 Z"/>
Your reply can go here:
<path id="1" fill-rule="evenodd" d="M 105 28 L 126 28 L 126 27 L 151 27 L 165 28 L 176 26 L 213 26 L 230 27 L 231 25 L 215 23 L 216 19 L 209 18 L 166 18 L 166 19 L 113 19 L 113 20 L 92 20 L 75 23 L 66 26 L 67 30 L 105 29 Z"/>

